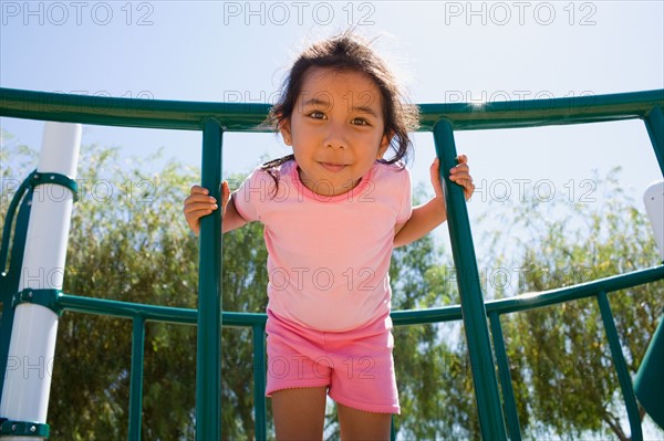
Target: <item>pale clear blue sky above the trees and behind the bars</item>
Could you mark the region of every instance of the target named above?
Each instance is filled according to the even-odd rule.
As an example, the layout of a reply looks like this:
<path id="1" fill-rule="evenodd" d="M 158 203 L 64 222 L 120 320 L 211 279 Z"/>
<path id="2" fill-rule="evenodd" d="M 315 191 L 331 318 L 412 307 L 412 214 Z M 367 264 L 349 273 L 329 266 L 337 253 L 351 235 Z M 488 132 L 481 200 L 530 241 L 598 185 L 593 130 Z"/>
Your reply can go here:
<path id="1" fill-rule="evenodd" d="M 662 1 L 218 2 L 1 1 L 0 85 L 48 92 L 183 101 L 271 102 L 294 53 L 355 24 L 382 34 L 376 48 L 401 72 L 415 103 L 522 99 L 664 88 Z M 31 146 L 42 124 L 1 118 Z M 288 150 L 272 135 L 230 134 L 225 172 L 248 171 Z M 428 180 L 430 134 L 417 134 L 413 172 Z M 195 133 L 89 126 L 83 141 L 199 165 Z M 639 120 L 541 129 L 466 132 L 480 186 L 476 218 L 491 199 L 516 200 L 519 182 L 546 198 L 579 201 L 592 170 L 621 179 L 641 200 L 661 179 Z M 530 190 L 532 191 L 532 189 Z M 595 202 L 600 203 L 600 202 Z M 495 208 L 495 206 L 491 206 Z M 446 230 L 443 229 L 444 235 Z M 477 232 L 476 232 L 477 235 Z M 481 255 L 481 250 L 478 251 Z"/>

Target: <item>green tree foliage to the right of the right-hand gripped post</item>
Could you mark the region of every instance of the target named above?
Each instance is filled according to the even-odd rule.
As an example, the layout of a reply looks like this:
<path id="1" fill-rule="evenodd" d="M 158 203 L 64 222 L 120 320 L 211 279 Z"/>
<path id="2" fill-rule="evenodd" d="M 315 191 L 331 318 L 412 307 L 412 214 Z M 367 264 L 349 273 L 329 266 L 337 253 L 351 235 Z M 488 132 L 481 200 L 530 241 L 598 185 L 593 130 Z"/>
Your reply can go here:
<path id="1" fill-rule="evenodd" d="M 645 269 L 658 263 L 650 223 L 622 191 L 619 170 L 596 179 L 606 198 L 577 203 L 564 218 L 560 202 L 517 207 L 515 230 L 526 232 L 516 258 L 491 256 L 521 276 L 517 291 L 540 292 Z M 664 307 L 664 284 L 609 295 L 632 377 Z M 501 293 L 498 293 L 501 294 Z M 533 438 L 612 435 L 629 440 L 618 377 L 594 298 L 504 317 L 521 426 Z M 643 412 L 641 417 L 643 418 Z"/>

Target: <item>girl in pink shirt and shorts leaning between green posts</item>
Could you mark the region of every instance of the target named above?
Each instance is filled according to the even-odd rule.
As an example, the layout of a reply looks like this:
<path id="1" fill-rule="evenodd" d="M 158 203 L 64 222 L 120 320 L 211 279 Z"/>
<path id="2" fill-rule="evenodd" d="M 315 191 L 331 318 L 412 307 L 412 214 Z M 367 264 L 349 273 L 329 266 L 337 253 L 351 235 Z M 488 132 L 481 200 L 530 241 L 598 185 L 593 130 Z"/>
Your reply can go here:
<path id="1" fill-rule="evenodd" d="M 342 439 L 390 439 L 398 413 L 392 359 L 392 249 L 446 219 L 438 161 L 435 197 L 412 208 L 401 161 L 417 109 L 393 75 L 351 32 L 313 44 L 293 64 L 269 119 L 293 155 L 256 169 L 230 195 L 222 185 L 224 232 L 264 224 L 268 248 L 268 397 L 278 440 L 320 440 L 325 395 L 336 402 Z M 394 155 L 384 159 L 392 147 Z M 475 186 L 461 155 L 450 179 L 468 199 Z M 191 188 L 185 217 L 218 208 Z"/>

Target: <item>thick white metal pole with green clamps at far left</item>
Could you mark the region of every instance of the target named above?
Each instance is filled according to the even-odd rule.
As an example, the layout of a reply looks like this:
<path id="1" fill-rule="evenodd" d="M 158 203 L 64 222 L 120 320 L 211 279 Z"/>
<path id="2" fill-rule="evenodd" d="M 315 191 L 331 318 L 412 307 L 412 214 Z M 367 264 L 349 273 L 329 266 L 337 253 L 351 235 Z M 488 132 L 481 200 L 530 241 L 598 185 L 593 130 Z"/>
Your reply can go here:
<path id="1" fill-rule="evenodd" d="M 80 124 L 45 123 L 38 172 L 74 179 L 81 132 Z M 73 195 L 65 187 L 53 183 L 35 187 L 19 291 L 62 290 L 72 204 Z M 48 307 L 31 303 L 17 306 L 0 417 L 46 422 L 56 332 L 58 315 Z"/>

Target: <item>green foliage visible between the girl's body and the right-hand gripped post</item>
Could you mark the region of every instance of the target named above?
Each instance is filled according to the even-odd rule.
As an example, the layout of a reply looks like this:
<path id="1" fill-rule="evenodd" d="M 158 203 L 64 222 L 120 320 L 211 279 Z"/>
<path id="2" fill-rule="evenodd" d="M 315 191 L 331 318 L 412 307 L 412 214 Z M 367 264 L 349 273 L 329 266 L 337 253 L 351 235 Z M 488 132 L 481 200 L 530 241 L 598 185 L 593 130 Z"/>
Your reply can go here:
<path id="1" fill-rule="evenodd" d="M 426 198 L 425 189 L 415 200 Z M 433 235 L 394 250 L 390 269 L 394 311 L 458 304 L 450 258 Z M 400 437 L 413 440 L 478 439 L 467 351 L 458 325 L 411 325 L 394 329 L 394 360 L 402 416 Z M 455 343 L 456 342 L 456 343 Z"/>

